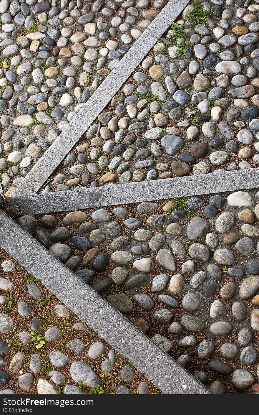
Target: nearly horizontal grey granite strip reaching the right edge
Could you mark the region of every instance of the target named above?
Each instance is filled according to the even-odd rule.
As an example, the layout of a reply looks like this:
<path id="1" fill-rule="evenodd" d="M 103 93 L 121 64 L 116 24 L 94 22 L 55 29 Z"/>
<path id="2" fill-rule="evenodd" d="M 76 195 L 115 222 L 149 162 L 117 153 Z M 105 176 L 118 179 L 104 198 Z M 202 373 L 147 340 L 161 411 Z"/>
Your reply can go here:
<path id="1" fill-rule="evenodd" d="M 12 197 L 5 199 L 5 209 L 11 216 L 36 215 L 254 188 L 259 168 Z"/>

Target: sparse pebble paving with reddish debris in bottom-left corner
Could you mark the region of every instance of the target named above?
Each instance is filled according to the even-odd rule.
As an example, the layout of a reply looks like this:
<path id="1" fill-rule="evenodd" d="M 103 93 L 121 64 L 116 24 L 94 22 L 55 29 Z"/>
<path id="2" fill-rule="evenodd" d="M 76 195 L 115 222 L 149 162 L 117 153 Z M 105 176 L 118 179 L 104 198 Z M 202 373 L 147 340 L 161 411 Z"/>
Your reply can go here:
<path id="1" fill-rule="evenodd" d="M 0 249 L 0 394 L 157 394 L 131 362 Z"/>

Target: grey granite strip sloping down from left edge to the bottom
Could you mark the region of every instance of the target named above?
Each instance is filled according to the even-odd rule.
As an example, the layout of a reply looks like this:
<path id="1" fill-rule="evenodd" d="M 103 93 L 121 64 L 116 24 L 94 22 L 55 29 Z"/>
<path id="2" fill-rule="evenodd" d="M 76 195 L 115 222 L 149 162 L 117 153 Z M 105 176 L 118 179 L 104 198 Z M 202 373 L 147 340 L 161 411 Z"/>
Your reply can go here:
<path id="1" fill-rule="evenodd" d="M 211 394 L 2 211 L 0 246 L 162 392 Z"/>

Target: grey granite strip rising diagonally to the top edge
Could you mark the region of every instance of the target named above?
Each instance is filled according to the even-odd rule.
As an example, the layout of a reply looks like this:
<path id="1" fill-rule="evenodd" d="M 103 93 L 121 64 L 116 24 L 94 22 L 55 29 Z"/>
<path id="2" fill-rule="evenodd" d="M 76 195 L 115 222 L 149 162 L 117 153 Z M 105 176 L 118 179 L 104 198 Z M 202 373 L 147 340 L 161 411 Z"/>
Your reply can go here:
<path id="1" fill-rule="evenodd" d="M 189 0 L 181 0 L 181 2 L 170 0 L 167 3 L 46 153 L 43 154 L 22 183 L 19 184 L 13 195 L 36 193 L 41 188 L 123 83 L 131 76 L 134 69 L 154 46 L 157 38 L 168 29 L 169 25 L 188 3 Z"/>

